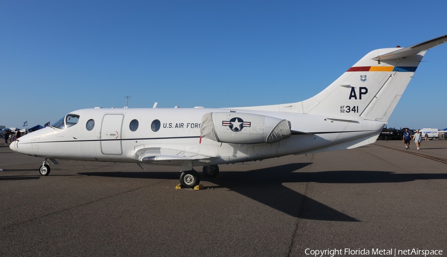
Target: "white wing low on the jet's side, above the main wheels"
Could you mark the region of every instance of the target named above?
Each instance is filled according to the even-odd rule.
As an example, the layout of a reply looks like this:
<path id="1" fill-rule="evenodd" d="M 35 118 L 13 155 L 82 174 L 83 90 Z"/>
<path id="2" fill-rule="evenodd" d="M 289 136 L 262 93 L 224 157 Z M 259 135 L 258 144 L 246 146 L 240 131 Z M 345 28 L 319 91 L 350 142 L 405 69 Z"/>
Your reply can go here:
<path id="1" fill-rule="evenodd" d="M 164 149 L 160 147 L 144 148 L 135 153 L 135 156 L 143 163 L 175 164 L 186 160 L 208 162 L 212 157 L 182 150 Z"/>

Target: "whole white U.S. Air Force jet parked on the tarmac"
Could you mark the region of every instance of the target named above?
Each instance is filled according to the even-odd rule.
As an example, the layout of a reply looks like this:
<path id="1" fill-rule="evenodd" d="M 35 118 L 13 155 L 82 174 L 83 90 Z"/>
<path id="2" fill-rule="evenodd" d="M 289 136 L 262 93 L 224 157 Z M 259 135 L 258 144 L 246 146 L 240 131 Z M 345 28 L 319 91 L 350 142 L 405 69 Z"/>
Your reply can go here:
<path id="1" fill-rule="evenodd" d="M 179 166 L 192 188 L 203 166 L 352 149 L 375 142 L 426 51 L 447 35 L 405 48 L 377 49 L 317 95 L 295 103 L 236 108 L 93 108 L 73 111 L 10 145 L 47 160 Z M 155 106 L 154 106 L 155 107 Z"/>

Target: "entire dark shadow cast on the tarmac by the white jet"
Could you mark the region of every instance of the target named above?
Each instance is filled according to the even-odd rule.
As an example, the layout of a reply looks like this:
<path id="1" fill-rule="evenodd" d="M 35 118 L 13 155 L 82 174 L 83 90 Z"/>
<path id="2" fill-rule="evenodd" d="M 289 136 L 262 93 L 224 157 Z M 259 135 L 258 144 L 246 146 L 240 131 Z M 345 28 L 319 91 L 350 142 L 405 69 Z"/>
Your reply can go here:
<path id="1" fill-rule="evenodd" d="M 217 186 L 227 188 L 293 217 L 310 220 L 350 221 L 359 220 L 327 205 L 298 193 L 283 183 L 396 183 L 418 179 L 447 179 L 443 173 L 394 173 L 391 171 L 317 171 L 294 172 L 311 163 L 286 164 L 252 171 L 221 171 L 221 178 L 202 178 Z M 172 179 L 178 172 L 80 172 L 79 175 Z"/>

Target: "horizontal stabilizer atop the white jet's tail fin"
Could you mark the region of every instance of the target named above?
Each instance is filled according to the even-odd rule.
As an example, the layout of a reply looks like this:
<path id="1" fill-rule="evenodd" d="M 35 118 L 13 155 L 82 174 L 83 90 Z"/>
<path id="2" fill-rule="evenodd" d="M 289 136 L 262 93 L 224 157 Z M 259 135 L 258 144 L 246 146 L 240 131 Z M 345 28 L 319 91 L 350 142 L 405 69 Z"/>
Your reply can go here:
<path id="1" fill-rule="evenodd" d="M 374 61 L 381 61 L 381 60 L 391 60 L 391 59 L 399 59 L 404 58 L 407 56 L 416 55 L 422 51 L 429 50 L 430 48 L 433 48 L 435 46 L 441 45 L 443 43 L 447 42 L 447 35 L 440 36 L 437 38 L 434 38 L 432 40 L 428 40 L 416 45 L 412 45 L 409 47 L 404 47 L 402 49 L 393 51 L 391 53 L 387 53 L 384 55 L 379 55 L 377 57 L 374 57 Z"/>

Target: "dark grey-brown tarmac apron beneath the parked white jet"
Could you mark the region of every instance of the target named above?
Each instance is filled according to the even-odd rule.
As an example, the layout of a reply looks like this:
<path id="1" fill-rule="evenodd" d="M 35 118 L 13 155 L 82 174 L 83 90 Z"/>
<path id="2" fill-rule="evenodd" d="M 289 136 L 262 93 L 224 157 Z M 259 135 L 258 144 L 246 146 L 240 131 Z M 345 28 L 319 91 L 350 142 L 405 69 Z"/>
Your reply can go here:
<path id="1" fill-rule="evenodd" d="M 175 189 L 176 167 L 60 161 L 40 176 L 43 159 L 1 145 L 0 256 L 447 255 L 447 141 L 410 147 L 222 165 L 195 191 Z"/>

